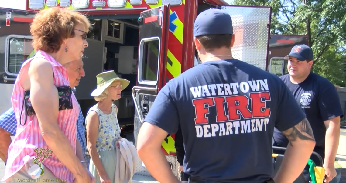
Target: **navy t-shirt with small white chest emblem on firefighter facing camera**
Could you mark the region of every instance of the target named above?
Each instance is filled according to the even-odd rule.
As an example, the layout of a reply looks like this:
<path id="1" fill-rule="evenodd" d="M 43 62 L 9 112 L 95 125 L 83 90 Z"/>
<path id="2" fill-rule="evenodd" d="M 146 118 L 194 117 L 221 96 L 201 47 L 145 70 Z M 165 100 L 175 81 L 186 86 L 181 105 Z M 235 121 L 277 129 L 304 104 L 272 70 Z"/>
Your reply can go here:
<path id="1" fill-rule="evenodd" d="M 315 73 L 310 73 L 300 84 L 293 84 L 289 74 L 280 78 L 291 90 L 295 100 L 306 114 L 315 136 L 316 146 L 324 147 L 326 139 L 324 121 L 344 115 L 335 86 Z M 273 138 L 276 145 L 282 147 L 288 145 L 288 139 L 278 129 L 274 130 Z"/>

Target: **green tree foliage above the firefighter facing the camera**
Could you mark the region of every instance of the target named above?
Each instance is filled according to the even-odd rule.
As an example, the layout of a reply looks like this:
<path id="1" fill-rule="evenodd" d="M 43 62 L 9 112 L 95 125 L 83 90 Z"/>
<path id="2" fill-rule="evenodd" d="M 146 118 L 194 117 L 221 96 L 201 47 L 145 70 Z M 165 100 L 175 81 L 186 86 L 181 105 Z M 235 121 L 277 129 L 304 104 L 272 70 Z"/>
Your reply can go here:
<path id="1" fill-rule="evenodd" d="M 271 34 L 307 35 L 313 71 L 346 85 L 346 0 L 235 0 L 234 5 L 272 7 Z"/>

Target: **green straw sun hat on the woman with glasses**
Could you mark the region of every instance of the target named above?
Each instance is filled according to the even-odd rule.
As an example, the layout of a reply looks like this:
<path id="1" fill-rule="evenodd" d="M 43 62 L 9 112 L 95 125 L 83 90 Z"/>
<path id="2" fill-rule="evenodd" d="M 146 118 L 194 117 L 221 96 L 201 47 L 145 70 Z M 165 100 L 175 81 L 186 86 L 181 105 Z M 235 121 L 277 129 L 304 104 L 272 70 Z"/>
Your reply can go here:
<path id="1" fill-rule="evenodd" d="M 120 81 L 122 84 L 121 90 L 124 90 L 127 86 L 129 86 L 130 81 L 127 79 L 121 79 L 117 74 L 115 74 L 114 70 L 106 71 L 100 73 L 96 76 L 97 79 L 97 88 L 92 91 L 90 94 L 93 97 L 100 96 L 105 89 L 107 89 L 114 81 Z"/>

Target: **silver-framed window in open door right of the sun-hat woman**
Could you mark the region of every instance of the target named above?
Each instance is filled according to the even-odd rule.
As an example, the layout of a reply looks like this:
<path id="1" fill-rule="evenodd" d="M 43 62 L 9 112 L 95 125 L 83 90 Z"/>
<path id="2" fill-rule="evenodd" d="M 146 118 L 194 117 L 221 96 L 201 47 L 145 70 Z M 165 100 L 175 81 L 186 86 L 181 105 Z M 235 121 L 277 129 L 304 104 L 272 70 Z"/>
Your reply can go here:
<path id="1" fill-rule="evenodd" d="M 160 38 L 146 38 L 139 43 L 138 82 L 156 85 L 158 80 L 158 62 L 160 58 Z"/>

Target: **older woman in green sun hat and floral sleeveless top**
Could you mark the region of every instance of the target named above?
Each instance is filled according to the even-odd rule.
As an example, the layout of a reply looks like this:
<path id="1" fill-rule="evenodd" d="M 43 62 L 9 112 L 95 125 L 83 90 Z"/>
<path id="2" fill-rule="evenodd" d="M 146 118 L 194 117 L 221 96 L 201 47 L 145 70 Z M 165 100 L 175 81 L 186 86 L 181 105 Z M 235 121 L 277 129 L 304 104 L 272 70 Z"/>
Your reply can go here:
<path id="1" fill-rule="evenodd" d="M 89 170 L 96 183 L 114 183 L 116 145 L 120 137 L 118 108 L 113 104 L 130 81 L 120 79 L 113 70 L 98 74 L 97 88 L 91 96 L 98 102 L 89 109 L 85 118 L 86 140 L 91 156 Z"/>

